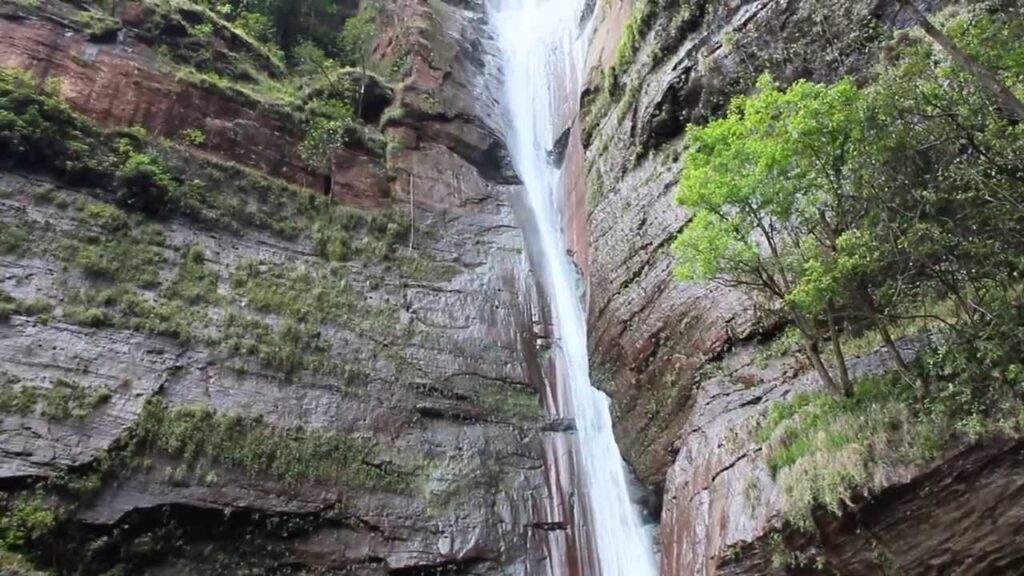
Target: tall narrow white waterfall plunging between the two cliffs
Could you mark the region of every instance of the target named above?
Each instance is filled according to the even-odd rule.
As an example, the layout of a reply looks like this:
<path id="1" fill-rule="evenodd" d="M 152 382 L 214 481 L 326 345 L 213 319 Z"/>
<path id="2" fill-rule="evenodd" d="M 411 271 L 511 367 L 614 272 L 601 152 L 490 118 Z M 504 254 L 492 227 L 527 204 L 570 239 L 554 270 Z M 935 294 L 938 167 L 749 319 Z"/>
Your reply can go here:
<path id="1" fill-rule="evenodd" d="M 549 151 L 567 98 L 579 98 L 589 31 L 587 0 L 492 0 L 504 51 L 507 139 L 525 188 L 519 210 L 534 268 L 551 304 L 559 394 L 548 409 L 572 418 L 578 553 L 586 576 L 655 576 L 653 547 L 629 497 L 626 468 L 611 427 L 608 398 L 590 382 L 587 331 L 560 222 L 562 171 Z M 566 123 L 567 124 L 567 123 Z"/>

